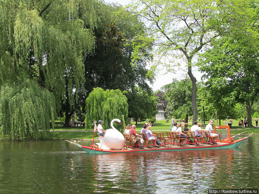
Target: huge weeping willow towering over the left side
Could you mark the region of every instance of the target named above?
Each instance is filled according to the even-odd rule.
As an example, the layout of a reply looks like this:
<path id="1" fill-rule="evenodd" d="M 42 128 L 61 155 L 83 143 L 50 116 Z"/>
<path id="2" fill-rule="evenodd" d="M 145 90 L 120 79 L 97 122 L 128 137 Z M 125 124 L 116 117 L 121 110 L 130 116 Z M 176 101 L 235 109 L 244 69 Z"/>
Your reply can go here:
<path id="1" fill-rule="evenodd" d="M 21 106 L 21 110 L 27 103 L 26 100 L 28 104 L 32 101 L 45 102 L 38 97 L 36 91 L 44 91 L 44 96 L 54 97 L 57 105 L 60 99 L 64 99 L 66 106 L 71 106 L 77 99 L 77 91 L 83 90 L 83 56 L 94 49 L 96 16 L 93 7 L 94 0 L 1 0 L 1 93 L 6 90 L 6 83 L 12 85 L 16 82 L 17 95 L 26 89 L 32 92 L 30 98 L 24 98 L 22 104 L 17 104 Z M 30 84 L 24 90 L 18 89 L 18 83 L 23 85 L 22 80 L 27 79 L 34 82 L 27 82 Z M 47 94 L 43 88 L 54 95 Z M 31 89 L 35 89 L 34 93 Z M 13 110 L 13 107 L 9 109 Z M 45 110 L 40 108 L 37 111 Z M 46 116 L 44 112 L 40 115 Z M 25 114 L 20 114 L 20 117 L 24 117 L 21 120 L 27 119 Z M 34 127 L 42 125 L 40 120 L 49 122 L 49 117 L 31 116 L 32 118 L 34 120 L 31 122 L 34 124 L 31 126 Z M 16 122 L 13 124 L 17 124 L 14 136 L 18 134 L 17 131 L 21 135 L 21 130 L 28 134 L 27 128 L 31 128 L 29 124 L 24 124 L 27 127 Z M 7 130 L 5 134 L 9 131 L 6 127 L 3 130 Z"/>

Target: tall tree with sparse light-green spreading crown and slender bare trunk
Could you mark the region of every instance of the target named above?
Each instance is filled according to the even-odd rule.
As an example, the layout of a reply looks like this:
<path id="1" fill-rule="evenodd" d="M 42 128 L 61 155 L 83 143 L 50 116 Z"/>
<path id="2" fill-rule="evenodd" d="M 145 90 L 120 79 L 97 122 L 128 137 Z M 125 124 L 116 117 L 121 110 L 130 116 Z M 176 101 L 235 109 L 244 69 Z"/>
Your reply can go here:
<path id="1" fill-rule="evenodd" d="M 187 73 L 192 81 L 193 121 L 197 120 L 196 78 L 192 73 L 193 57 L 211 41 L 229 32 L 237 24 L 247 20 L 247 2 L 164 0 L 135 1 L 130 9 L 141 16 L 149 26 L 148 32 L 139 37 L 142 46 L 153 43 L 158 58 L 161 56 L 182 57 L 187 64 Z M 238 22 L 237 22 L 238 21 Z M 135 55 L 141 46 L 136 46 Z M 177 51 L 180 51 L 177 52 Z M 167 64 L 170 69 L 172 66 Z"/>

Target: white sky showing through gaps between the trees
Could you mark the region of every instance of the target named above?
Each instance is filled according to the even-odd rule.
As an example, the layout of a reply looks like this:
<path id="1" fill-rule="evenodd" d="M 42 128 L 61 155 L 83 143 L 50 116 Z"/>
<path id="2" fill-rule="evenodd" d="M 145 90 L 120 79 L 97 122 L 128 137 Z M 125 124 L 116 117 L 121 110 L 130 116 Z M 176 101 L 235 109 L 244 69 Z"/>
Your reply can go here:
<path id="1" fill-rule="evenodd" d="M 131 0 L 104 0 L 106 3 L 119 3 L 121 5 L 127 5 L 131 2 Z M 165 84 L 172 83 L 173 78 L 177 80 L 184 79 L 187 75 L 187 68 L 185 62 L 180 62 L 180 69 L 175 69 L 174 71 L 167 72 L 167 70 L 163 66 L 158 66 L 159 71 L 156 72 L 155 81 L 153 85 L 149 84 L 149 86 L 153 89 L 153 91 L 159 90 Z M 192 68 L 193 75 L 196 77 L 197 81 L 201 80 L 201 72 L 197 70 L 197 68 Z"/>

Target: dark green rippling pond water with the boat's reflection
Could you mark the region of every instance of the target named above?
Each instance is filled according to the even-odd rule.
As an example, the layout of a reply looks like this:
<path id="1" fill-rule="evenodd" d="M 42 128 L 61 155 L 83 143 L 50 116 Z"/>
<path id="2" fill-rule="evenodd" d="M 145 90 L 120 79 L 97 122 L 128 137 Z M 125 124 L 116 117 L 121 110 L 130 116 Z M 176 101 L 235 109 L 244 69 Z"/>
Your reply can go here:
<path id="1" fill-rule="evenodd" d="M 259 135 L 253 135 L 233 150 L 92 155 L 64 140 L 0 140 L 0 193 L 258 189 L 258 146 Z"/>

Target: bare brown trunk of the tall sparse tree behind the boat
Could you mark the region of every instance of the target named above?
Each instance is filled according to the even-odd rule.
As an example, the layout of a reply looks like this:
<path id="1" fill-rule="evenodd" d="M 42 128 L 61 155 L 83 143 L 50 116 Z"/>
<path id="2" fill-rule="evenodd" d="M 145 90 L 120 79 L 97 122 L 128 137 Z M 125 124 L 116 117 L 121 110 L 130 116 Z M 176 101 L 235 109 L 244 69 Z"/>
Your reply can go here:
<path id="1" fill-rule="evenodd" d="M 197 86 L 196 86 L 196 78 L 193 76 L 192 73 L 192 59 L 187 57 L 188 60 L 188 75 L 192 81 L 192 105 L 193 105 L 193 122 L 197 121 L 198 110 L 196 104 L 196 95 L 197 95 Z"/>

